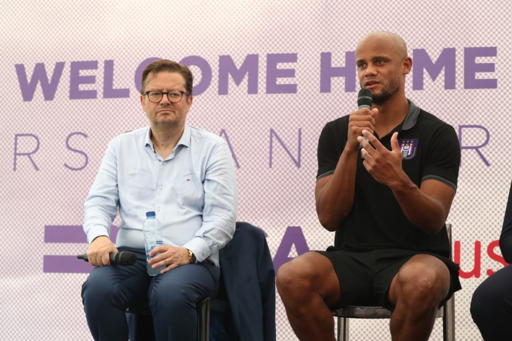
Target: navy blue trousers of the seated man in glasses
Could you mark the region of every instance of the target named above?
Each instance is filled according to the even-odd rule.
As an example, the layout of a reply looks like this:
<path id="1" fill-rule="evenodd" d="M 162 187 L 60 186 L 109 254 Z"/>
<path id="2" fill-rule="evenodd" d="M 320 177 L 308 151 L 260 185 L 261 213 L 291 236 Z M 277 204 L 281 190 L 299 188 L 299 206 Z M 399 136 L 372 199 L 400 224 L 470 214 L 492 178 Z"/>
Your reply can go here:
<path id="1" fill-rule="evenodd" d="M 215 297 L 220 270 L 205 261 L 149 276 L 143 250 L 120 247 L 137 254 L 132 266 L 95 267 L 82 285 L 87 324 L 95 340 L 128 339 L 125 309 L 147 300 L 158 340 L 195 340 L 197 303 Z"/>

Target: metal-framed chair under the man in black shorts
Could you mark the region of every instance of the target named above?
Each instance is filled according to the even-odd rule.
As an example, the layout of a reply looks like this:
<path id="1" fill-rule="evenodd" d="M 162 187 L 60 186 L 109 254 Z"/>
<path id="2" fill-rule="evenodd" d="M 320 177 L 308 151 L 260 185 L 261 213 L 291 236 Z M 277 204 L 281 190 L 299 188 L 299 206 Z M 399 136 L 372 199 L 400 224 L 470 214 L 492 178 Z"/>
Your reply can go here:
<path id="1" fill-rule="evenodd" d="M 450 240 L 450 259 L 452 253 L 452 224 L 446 224 Z M 384 307 L 348 306 L 332 312 L 337 317 L 337 340 L 349 341 L 349 319 L 390 319 L 393 312 Z M 455 297 L 452 297 L 437 310 L 436 318 L 443 319 L 443 341 L 455 341 Z"/>

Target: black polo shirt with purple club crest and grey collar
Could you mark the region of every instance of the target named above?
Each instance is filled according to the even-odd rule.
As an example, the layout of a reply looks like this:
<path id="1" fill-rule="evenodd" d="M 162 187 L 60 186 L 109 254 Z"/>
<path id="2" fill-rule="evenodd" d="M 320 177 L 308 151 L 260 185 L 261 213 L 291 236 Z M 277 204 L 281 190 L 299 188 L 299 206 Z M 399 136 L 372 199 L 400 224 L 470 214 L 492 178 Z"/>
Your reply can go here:
<path id="1" fill-rule="evenodd" d="M 403 122 L 380 143 L 391 150 L 391 135 L 398 131 L 402 169 L 420 187 L 436 179 L 457 189 L 460 146 L 454 128 L 409 101 Z M 349 116 L 327 123 L 318 140 L 316 179 L 334 173 L 347 143 Z M 334 245 L 340 249 L 365 251 L 402 248 L 450 257 L 446 229 L 432 236 L 416 228 L 403 214 L 391 189 L 379 184 L 357 158 L 352 210 L 336 230 Z"/>

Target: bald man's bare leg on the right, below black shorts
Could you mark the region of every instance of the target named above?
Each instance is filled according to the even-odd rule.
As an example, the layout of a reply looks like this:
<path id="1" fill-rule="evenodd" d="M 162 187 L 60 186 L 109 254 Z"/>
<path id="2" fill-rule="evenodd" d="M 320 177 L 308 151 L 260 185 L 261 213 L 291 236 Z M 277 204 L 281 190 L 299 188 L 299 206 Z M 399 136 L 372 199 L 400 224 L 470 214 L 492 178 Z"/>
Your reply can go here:
<path id="1" fill-rule="evenodd" d="M 416 255 L 398 271 L 389 290 L 395 304 L 390 330 L 393 341 L 428 340 L 439 302 L 450 287 L 450 272 L 431 255 Z"/>

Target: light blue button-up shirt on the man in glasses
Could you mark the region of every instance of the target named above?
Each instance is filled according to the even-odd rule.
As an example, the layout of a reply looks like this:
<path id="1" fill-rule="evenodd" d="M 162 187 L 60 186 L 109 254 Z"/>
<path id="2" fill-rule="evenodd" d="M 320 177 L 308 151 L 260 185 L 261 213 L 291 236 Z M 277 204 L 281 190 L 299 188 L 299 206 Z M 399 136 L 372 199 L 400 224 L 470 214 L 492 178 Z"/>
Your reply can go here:
<path id="1" fill-rule="evenodd" d="M 91 243 L 109 236 L 119 210 L 116 246 L 144 249 L 142 224 L 155 211 L 164 245 L 190 249 L 198 262 L 219 266 L 219 249 L 231 240 L 238 193 L 227 143 L 185 125 L 172 154 L 155 152 L 150 127 L 119 135 L 105 152 L 85 202 L 83 230 Z"/>

